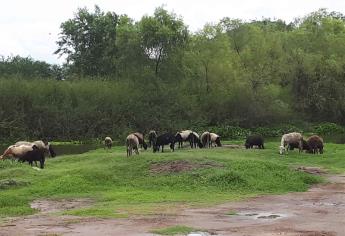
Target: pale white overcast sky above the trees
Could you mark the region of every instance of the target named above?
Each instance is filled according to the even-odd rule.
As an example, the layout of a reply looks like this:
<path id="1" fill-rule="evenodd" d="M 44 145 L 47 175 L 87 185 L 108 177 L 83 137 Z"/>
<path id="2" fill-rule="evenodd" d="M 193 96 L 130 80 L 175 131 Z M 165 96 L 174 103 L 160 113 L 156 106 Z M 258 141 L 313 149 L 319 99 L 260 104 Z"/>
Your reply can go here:
<path id="1" fill-rule="evenodd" d="M 60 24 L 80 7 L 127 14 L 140 20 L 152 15 L 158 6 L 165 6 L 181 16 L 189 29 L 196 31 L 208 22 L 223 17 L 244 20 L 270 17 L 286 22 L 319 8 L 345 13 L 345 0 L 0 0 L 0 55 L 31 56 L 49 63 L 62 63 L 53 52 Z"/>

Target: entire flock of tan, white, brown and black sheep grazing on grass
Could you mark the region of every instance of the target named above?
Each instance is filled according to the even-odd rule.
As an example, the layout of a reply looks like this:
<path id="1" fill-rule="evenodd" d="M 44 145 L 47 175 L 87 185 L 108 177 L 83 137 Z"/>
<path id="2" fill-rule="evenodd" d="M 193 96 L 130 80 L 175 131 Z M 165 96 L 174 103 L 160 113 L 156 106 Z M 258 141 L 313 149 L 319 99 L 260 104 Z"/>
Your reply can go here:
<path id="1" fill-rule="evenodd" d="M 211 148 L 221 147 L 220 136 L 211 132 L 203 132 L 199 135 L 192 130 L 183 130 L 175 134 L 163 133 L 158 135 L 156 131 L 151 130 L 148 133 L 148 143 L 145 142 L 144 135 L 136 132 L 131 133 L 126 138 L 127 157 L 133 154 L 139 154 L 139 148 L 152 148 L 153 152 L 164 152 L 164 145 L 169 145 L 172 151 L 175 150 L 175 144 L 178 148 L 183 147 L 183 143 L 187 142 L 191 148 Z M 104 148 L 111 148 L 113 141 L 110 137 L 104 139 Z M 257 147 L 264 149 L 264 139 L 261 135 L 250 135 L 247 137 L 245 144 L 246 149 Z M 284 134 L 281 138 L 279 147 L 280 154 L 286 154 L 289 150 L 298 148 L 299 152 L 307 152 L 312 154 L 323 153 L 324 143 L 321 137 L 312 135 L 304 140 L 300 133 L 293 132 Z M 14 145 L 9 146 L 0 156 L 0 160 L 11 158 L 20 162 L 28 162 L 31 166 L 37 161 L 40 163 L 40 168 L 44 168 L 45 155 L 55 157 L 56 154 L 52 145 L 49 142 L 37 140 L 34 142 L 19 141 Z"/>

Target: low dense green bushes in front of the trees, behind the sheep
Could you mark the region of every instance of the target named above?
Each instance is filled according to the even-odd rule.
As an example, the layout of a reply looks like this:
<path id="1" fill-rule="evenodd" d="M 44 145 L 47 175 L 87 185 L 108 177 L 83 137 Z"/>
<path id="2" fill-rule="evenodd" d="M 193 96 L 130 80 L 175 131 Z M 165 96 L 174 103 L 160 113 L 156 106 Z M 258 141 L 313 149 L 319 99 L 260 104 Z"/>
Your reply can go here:
<path id="1" fill-rule="evenodd" d="M 222 100 L 198 104 L 194 95 L 168 85 L 147 93 L 150 85 L 137 87 L 125 82 L 81 80 L 0 80 L 0 138 L 16 141 L 51 137 L 55 140 L 90 140 L 111 135 L 123 139 L 129 132 L 150 129 L 171 131 L 191 128 L 210 130 L 224 138 L 244 138 L 257 133 L 265 137 L 292 131 L 321 135 L 344 133 L 334 123 L 308 128 L 302 125 L 267 125 L 236 113 L 250 112 L 238 104 L 226 109 Z M 214 116 L 213 106 L 223 115 Z M 263 104 L 264 106 L 264 104 Z M 235 121 L 233 121 L 235 120 Z M 245 122 L 243 122 L 245 121 Z M 241 126 L 241 123 L 254 124 Z"/>

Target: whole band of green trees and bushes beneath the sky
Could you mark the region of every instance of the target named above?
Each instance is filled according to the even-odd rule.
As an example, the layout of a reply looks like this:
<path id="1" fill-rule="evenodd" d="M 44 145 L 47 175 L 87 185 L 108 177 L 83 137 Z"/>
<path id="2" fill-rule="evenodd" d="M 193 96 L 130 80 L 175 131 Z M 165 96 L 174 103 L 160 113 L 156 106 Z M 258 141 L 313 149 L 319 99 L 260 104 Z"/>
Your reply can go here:
<path id="1" fill-rule="evenodd" d="M 344 125 L 344 42 L 344 15 L 324 9 L 289 24 L 223 18 L 198 32 L 162 7 L 139 21 L 78 9 L 61 24 L 64 66 L 0 60 L 0 138 Z"/>

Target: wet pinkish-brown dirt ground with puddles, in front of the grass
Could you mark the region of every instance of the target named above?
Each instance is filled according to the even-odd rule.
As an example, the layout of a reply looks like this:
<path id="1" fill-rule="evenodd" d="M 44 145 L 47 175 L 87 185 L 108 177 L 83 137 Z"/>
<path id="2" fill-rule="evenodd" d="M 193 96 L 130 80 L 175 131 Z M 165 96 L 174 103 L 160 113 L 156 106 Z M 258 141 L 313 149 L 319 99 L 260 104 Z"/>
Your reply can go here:
<path id="1" fill-rule="evenodd" d="M 323 174 L 313 168 L 300 170 Z M 260 196 L 209 208 L 181 208 L 173 215 L 129 219 L 54 215 L 64 209 L 87 206 L 91 204 L 88 199 L 35 201 L 32 207 L 40 209 L 40 213 L 0 223 L 0 235 L 152 235 L 152 229 L 186 225 L 203 229 L 207 232 L 204 235 L 343 236 L 345 175 L 327 178 L 330 183 L 303 193 Z"/>

